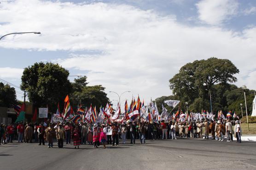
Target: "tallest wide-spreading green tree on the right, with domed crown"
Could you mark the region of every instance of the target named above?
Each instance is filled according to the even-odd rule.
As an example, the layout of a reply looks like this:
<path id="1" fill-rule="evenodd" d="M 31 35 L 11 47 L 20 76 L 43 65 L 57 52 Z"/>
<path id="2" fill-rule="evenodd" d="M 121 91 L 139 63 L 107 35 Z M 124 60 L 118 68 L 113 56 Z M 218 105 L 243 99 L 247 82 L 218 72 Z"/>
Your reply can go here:
<path id="1" fill-rule="evenodd" d="M 169 80 L 170 88 L 183 103 L 189 102 L 190 110 L 199 111 L 210 108 L 209 91 L 214 91 L 216 84 L 225 86 L 228 82 L 236 82 L 234 75 L 237 73 L 238 68 L 227 59 L 195 60 L 182 66 Z"/>

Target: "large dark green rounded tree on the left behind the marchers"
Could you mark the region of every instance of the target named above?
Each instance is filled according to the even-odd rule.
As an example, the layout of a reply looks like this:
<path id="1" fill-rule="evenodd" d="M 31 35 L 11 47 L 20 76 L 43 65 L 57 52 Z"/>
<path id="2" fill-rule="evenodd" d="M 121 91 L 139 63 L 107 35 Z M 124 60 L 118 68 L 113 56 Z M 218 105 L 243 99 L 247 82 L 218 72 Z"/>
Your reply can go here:
<path id="1" fill-rule="evenodd" d="M 24 69 L 21 89 L 29 93 L 29 101 L 37 107 L 48 106 L 55 112 L 58 102 L 71 92 L 69 71 L 51 62 L 35 63 Z"/>

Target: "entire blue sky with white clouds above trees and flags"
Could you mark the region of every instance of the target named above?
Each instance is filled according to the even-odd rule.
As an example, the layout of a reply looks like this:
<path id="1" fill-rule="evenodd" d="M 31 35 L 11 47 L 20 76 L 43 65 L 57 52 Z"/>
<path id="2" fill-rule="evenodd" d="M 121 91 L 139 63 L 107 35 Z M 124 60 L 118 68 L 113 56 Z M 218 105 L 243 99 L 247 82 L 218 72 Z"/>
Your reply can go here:
<path id="1" fill-rule="evenodd" d="M 148 103 L 172 94 L 169 79 L 181 66 L 217 57 L 238 67 L 235 85 L 256 89 L 255 0 L 0 2 L 0 36 L 41 32 L 0 41 L 0 78 L 14 85 L 23 68 L 53 62 L 103 85 L 110 100 L 118 96 L 109 91 L 131 91 L 121 102 L 139 94 Z"/>

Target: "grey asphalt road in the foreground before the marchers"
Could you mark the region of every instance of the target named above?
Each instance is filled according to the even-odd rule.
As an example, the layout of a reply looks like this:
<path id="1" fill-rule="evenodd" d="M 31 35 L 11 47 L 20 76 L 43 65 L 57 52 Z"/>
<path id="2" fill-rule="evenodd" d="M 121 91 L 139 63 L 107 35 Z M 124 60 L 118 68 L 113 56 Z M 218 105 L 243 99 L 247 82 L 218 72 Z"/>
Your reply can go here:
<path id="1" fill-rule="evenodd" d="M 38 143 L 0 146 L 0 170 L 193 170 L 256 169 L 255 142 L 205 139 L 147 140 L 146 144 L 64 145 L 60 149 Z M 46 143 L 47 144 L 47 143 Z"/>

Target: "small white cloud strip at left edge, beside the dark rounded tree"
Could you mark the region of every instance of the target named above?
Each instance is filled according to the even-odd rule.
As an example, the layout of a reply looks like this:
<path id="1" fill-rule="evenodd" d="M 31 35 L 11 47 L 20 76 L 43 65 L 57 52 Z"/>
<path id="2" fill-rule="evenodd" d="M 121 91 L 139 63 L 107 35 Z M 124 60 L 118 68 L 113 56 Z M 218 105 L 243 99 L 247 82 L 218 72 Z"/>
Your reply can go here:
<path id="1" fill-rule="evenodd" d="M 23 69 L 11 68 L 11 67 L 0 67 L 0 78 L 18 78 L 22 76 Z"/>

